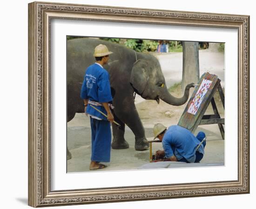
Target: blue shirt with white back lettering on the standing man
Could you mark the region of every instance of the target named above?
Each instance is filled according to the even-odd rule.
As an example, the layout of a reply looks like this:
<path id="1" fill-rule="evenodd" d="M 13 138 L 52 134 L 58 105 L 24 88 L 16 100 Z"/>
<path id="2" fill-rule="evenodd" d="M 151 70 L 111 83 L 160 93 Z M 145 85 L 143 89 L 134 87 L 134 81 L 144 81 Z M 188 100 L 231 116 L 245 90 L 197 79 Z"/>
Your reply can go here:
<path id="1" fill-rule="evenodd" d="M 81 98 L 100 103 L 111 102 L 113 100 L 108 71 L 101 67 L 101 65 L 94 63 L 87 68 L 81 88 Z M 103 106 L 95 107 L 107 115 L 107 111 Z M 97 118 L 108 120 L 108 118 L 94 110 L 90 105 L 86 108 L 86 112 Z"/>

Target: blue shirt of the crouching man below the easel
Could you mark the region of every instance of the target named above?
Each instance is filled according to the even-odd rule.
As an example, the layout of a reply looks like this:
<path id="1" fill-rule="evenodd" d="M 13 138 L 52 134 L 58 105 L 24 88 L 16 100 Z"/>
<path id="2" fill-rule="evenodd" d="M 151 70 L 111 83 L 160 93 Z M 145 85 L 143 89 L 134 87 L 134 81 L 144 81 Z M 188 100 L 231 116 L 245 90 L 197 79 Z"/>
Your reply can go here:
<path id="1" fill-rule="evenodd" d="M 186 128 L 179 125 L 170 126 L 162 139 L 162 146 L 166 157 L 175 156 L 177 160 L 183 157 L 189 162 L 195 162 L 195 149 L 200 141 Z M 204 154 L 203 145 L 197 150 Z"/>

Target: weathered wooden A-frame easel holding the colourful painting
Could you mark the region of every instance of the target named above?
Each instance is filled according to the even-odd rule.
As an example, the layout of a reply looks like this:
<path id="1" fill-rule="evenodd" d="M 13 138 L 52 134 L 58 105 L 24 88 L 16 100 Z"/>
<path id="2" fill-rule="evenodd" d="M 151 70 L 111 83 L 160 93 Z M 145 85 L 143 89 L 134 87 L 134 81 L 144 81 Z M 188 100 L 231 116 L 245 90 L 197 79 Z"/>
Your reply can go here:
<path id="1" fill-rule="evenodd" d="M 212 86 L 211 89 L 209 89 L 207 94 L 205 95 L 205 98 L 202 100 L 202 104 L 200 105 L 200 108 L 198 109 L 197 113 L 195 115 L 190 114 L 188 111 L 189 106 L 195 97 L 195 94 L 200 87 L 200 84 L 202 83 L 203 79 L 209 79 L 212 81 Z M 216 93 L 216 90 L 218 90 L 222 105 L 224 108 L 224 93 L 222 91 L 222 86 L 221 86 L 221 80 L 217 78 L 216 75 L 212 75 L 209 73 L 204 73 L 202 77 L 199 80 L 199 85 L 197 88 L 195 88 L 194 92 L 191 95 L 191 98 L 189 99 L 189 103 L 187 104 L 182 117 L 179 120 L 178 125 L 187 128 L 189 131 L 192 133 L 195 132 L 196 128 L 198 125 L 206 125 L 206 124 L 218 124 L 222 139 L 224 140 L 224 128 L 223 124 L 224 123 L 224 118 L 220 117 L 219 111 L 217 110 L 216 102 L 214 100 L 214 95 Z M 207 110 L 209 103 L 211 103 L 214 114 L 212 115 L 204 115 L 205 111 Z"/>

